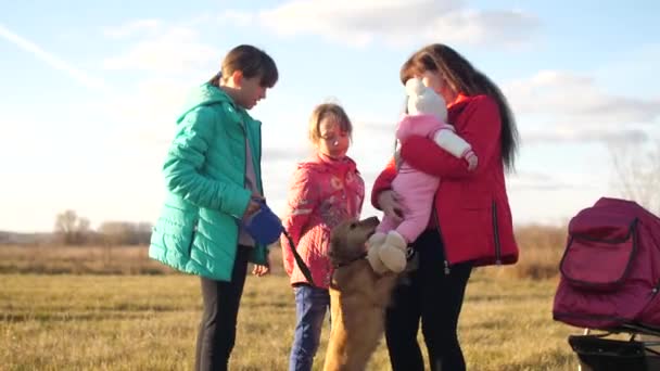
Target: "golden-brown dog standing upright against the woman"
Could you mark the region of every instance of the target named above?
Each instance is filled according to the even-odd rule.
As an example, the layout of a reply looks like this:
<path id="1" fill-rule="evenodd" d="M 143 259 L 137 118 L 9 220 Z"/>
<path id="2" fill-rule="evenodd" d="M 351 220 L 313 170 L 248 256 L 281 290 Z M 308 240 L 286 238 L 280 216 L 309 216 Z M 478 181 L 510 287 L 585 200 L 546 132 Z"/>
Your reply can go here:
<path id="1" fill-rule="evenodd" d="M 332 230 L 329 256 L 335 270 L 330 285 L 332 327 L 326 371 L 365 370 L 383 334 L 396 274 L 378 276 L 365 258 L 365 243 L 378 222 L 376 217 L 348 220 Z"/>

